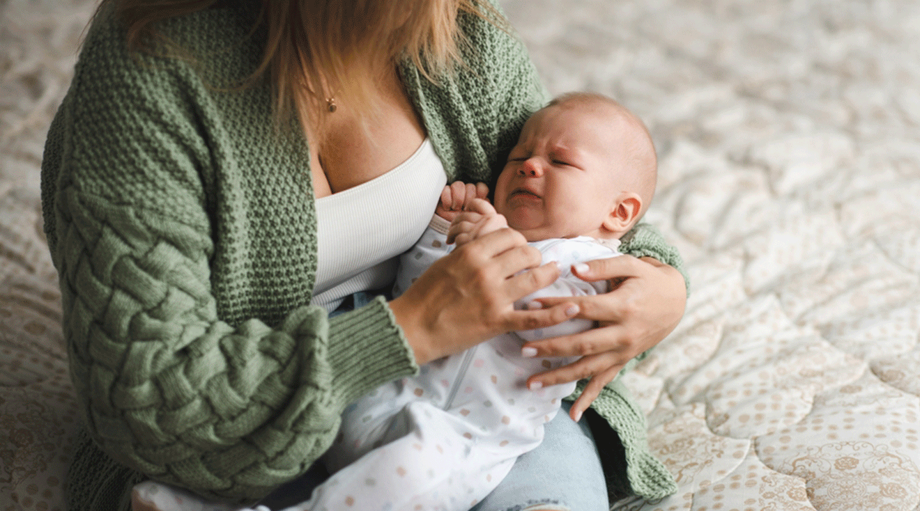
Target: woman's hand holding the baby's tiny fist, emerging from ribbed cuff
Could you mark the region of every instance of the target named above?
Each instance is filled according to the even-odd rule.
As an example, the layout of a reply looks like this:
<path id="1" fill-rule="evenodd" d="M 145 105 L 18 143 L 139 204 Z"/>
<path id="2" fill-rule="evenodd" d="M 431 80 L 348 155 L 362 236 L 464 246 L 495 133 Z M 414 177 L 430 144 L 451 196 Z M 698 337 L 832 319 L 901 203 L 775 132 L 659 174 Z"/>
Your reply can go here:
<path id="1" fill-rule="evenodd" d="M 416 361 L 452 355 L 503 332 L 559 324 L 578 313 L 571 301 L 514 310 L 514 301 L 558 278 L 556 264 L 538 267 L 541 260 L 521 233 L 504 228 L 458 246 L 431 265 L 390 301 Z"/>

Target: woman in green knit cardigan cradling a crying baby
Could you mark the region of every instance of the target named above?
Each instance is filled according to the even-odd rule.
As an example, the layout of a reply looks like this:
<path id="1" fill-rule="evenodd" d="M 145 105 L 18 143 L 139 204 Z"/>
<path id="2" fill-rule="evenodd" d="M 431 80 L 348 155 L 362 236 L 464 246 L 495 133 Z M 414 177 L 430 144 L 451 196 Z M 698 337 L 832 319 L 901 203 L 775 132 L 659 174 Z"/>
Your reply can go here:
<path id="1" fill-rule="evenodd" d="M 604 387 L 683 312 L 679 256 L 648 226 L 623 247 L 641 259 L 586 274 L 622 280 L 604 297 L 513 311 L 558 270 L 535 267 L 523 237 L 502 230 L 397 300 L 365 303 L 364 291 L 390 284 L 443 184 L 488 182 L 546 100 L 502 23 L 468 0 L 100 7 L 42 164 L 88 433 L 71 509 L 124 509 L 148 478 L 252 503 L 312 465 L 356 397 L 500 332 L 573 315 L 603 327 L 526 347 L 585 357 L 530 383 L 590 379 L 572 414 L 592 402 L 601 414 L 586 419 L 620 469 L 608 473 L 612 491 L 673 487 L 627 478 L 624 463 L 644 449 L 641 414 Z M 596 466 L 586 420 L 558 417 L 589 447 L 565 462 Z M 566 427 L 547 428 L 546 449 L 496 494 L 566 504 L 514 485 L 562 461 L 538 451 L 558 456 Z M 608 449 L 617 434 L 622 447 Z"/>

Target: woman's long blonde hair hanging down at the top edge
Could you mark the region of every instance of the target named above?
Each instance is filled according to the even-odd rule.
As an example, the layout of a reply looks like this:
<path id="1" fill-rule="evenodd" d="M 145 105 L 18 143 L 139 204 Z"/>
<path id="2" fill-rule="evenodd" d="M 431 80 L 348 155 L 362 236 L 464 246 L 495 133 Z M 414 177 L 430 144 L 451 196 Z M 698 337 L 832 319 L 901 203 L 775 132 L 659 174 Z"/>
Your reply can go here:
<path id="1" fill-rule="evenodd" d="M 296 113 L 304 129 L 325 119 L 328 99 L 358 111 L 372 104 L 374 81 L 408 57 L 433 83 L 462 65 L 468 44 L 459 13 L 508 29 L 487 0 L 249 0 L 261 2 L 265 53 L 247 84 L 270 73 L 276 114 Z M 198 12 L 219 0 L 107 0 L 127 29 L 128 47 L 157 39 L 155 23 Z M 287 114 L 285 112 L 288 112 Z"/>

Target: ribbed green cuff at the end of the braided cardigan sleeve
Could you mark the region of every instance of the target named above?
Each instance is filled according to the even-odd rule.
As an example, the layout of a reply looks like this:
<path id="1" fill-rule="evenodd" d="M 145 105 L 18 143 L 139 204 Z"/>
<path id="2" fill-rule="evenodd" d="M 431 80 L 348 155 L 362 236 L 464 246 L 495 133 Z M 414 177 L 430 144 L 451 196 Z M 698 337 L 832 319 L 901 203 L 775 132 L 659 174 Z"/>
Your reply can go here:
<path id="1" fill-rule="evenodd" d="M 333 388 L 351 403 L 387 381 L 415 374 L 419 365 L 383 297 L 329 319 Z"/>

